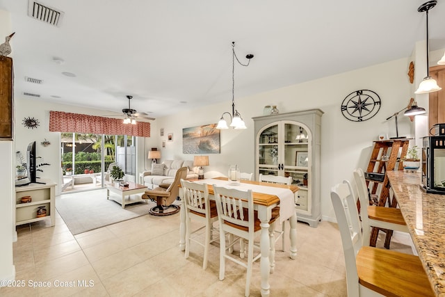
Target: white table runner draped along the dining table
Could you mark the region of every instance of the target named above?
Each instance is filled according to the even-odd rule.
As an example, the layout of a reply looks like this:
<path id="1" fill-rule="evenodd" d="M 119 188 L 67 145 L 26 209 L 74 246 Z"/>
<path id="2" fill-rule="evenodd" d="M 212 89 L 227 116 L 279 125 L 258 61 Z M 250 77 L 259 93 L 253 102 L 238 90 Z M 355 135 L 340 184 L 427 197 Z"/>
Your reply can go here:
<path id="1" fill-rule="evenodd" d="M 290 218 L 295 213 L 295 200 L 293 192 L 289 188 L 278 188 L 275 186 L 260 186 L 257 184 L 245 184 L 241 182 L 239 186 L 230 184 L 227 180 L 220 179 L 199 179 L 197 183 L 223 186 L 225 188 L 236 188 L 241 191 L 252 190 L 252 192 L 277 195 L 280 198 L 280 223 Z"/>

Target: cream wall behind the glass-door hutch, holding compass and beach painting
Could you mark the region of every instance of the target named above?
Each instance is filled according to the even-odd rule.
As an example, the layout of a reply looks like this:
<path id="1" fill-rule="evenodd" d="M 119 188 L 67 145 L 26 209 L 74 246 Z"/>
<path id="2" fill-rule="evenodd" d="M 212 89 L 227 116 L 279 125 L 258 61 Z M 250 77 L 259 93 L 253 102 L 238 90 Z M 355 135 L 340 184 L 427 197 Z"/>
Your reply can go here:
<path id="1" fill-rule="evenodd" d="M 407 77 L 409 63 L 410 58 L 403 58 L 249 97 L 236 97 L 236 109 L 243 116 L 248 129 L 221 131 L 221 153 L 209 154 L 210 166 L 204 168 L 204 172 L 216 170 L 225 174 L 229 164 L 238 164 L 241 171 L 253 172 L 254 135 L 251 118 L 262 115 L 265 105 L 277 105 L 281 113 L 321 109 L 325 112 L 321 127 L 321 213 L 323 220 L 335 220 L 330 187 L 342 179 L 352 179 L 355 168 L 366 168 L 373 141 L 377 140 L 379 134 L 396 136 L 394 118 L 388 121 L 385 119 L 407 106 L 410 97 L 414 95 Z M 370 120 L 351 122 L 341 114 L 340 105 L 349 93 L 360 89 L 378 93 L 382 106 Z M 193 159 L 193 155 L 182 154 L 182 128 L 216 123 L 223 111 L 230 110 L 231 102 L 225 102 L 160 118 L 156 120 L 150 141 L 161 147 L 167 134 L 173 133 L 174 141 L 166 142 L 165 149 L 161 148 L 162 159 Z M 413 125 L 401 113 L 398 116 L 399 136 L 412 136 L 410 131 L 414 131 Z M 161 128 L 165 131 L 162 138 L 159 136 Z"/>

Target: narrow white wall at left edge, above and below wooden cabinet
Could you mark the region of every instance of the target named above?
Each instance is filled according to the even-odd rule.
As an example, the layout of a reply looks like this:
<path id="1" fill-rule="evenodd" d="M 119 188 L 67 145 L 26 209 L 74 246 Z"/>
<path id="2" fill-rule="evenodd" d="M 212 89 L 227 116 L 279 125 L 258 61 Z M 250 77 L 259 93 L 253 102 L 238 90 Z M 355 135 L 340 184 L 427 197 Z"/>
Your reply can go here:
<path id="1" fill-rule="evenodd" d="M 0 10 L 0 36 L 10 35 L 10 14 Z M 1 41 L 3 42 L 3 41 Z M 15 224 L 13 223 L 13 141 L 0 141 L 0 280 L 14 280 L 13 240 L 15 240 Z"/>

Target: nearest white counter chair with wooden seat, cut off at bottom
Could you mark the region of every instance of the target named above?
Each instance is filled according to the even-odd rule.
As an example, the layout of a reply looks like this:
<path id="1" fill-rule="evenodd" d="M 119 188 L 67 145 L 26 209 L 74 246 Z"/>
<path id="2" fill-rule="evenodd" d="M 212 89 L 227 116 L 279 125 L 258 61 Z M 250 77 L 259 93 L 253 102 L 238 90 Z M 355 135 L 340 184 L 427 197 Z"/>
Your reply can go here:
<path id="1" fill-rule="evenodd" d="M 350 184 L 337 184 L 330 195 L 343 244 L 348 296 L 434 296 L 419 257 L 363 246 Z"/>

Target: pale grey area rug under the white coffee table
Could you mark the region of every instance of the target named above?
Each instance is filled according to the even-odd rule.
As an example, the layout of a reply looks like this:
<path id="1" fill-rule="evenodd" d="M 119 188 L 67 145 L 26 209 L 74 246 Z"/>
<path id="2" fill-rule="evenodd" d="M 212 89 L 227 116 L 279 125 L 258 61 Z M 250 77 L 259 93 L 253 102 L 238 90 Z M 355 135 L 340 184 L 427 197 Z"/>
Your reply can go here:
<path id="1" fill-rule="evenodd" d="M 117 194 L 111 198 L 119 200 Z M 106 189 L 64 194 L 56 197 L 56 209 L 73 235 L 148 214 L 154 202 L 136 202 L 122 209 L 114 200 L 106 199 Z"/>

